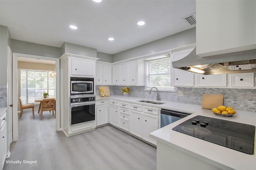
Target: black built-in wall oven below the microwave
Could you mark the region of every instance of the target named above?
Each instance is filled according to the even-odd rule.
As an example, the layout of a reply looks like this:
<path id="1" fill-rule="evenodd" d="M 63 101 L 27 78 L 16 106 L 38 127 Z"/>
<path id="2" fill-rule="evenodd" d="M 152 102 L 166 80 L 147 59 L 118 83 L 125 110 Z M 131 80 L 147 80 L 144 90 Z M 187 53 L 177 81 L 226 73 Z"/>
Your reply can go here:
<path id="1" fill-rule="evenodd" d="M 70 97 L 70 126 L 95 120 L 95 96 Z"/>

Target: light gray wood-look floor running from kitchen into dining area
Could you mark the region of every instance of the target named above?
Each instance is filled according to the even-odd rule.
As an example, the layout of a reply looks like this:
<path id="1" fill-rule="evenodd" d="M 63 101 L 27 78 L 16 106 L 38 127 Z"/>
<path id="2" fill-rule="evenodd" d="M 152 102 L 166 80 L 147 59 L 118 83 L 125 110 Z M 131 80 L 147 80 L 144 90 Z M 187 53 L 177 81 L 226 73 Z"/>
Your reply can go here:
<path id="1" fill-rule="evenodd" d="M 24 111 L 4 170 L 156 170 L 156 148 L 110 126 L 66 137 L 52 113 Z M 36 164 L 25 164 L 36 160 Z"/>

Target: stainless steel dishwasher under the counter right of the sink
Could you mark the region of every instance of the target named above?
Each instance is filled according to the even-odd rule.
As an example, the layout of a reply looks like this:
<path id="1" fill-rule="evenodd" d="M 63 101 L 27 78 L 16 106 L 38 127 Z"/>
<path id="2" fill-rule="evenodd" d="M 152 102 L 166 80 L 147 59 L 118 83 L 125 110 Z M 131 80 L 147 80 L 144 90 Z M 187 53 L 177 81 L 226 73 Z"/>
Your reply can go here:
<path id="1" fill-rule="evenodd" d="M 169 125 L 170 123 L 173 123 L 174 121 L 177 121 L 179 119 L 182 119 L 183 117 L 186 117 L 192 114 L 192 113 L 167 110 L 167 109 L 161 109 L 160 113 L 161 113 L 161 123 L 160 123 L 161 128 L 166 125 Z"/>

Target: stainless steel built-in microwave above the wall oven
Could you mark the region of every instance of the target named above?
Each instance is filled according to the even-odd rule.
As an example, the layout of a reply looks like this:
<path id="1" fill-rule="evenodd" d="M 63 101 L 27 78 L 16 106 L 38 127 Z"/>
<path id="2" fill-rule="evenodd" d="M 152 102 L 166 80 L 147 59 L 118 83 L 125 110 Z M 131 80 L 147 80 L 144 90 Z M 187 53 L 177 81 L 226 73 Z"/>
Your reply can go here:
<path id="1" fill-rule="evenodd" d="M 94 94 L 94 78 L 70 77 L 70 94 Z"/>

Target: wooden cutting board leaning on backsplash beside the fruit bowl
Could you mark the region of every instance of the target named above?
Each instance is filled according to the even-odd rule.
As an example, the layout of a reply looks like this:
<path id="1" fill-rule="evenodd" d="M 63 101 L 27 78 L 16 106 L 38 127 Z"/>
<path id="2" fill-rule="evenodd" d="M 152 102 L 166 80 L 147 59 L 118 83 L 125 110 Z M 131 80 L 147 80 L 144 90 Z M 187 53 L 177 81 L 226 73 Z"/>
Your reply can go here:
<path id="1" fill-rule="evenodd" d="M 212 109 L 223 105 L 223 95 L 204 94 L 202 100 L 202 108 Z"/>

